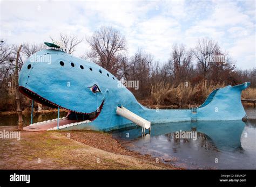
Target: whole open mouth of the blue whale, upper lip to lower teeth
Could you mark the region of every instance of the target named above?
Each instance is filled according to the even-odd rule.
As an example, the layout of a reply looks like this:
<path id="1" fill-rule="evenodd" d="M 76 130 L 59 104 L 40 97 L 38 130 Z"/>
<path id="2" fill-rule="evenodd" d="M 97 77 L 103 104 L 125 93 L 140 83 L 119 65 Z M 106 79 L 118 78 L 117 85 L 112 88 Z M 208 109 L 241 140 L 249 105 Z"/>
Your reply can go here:
<path id="1" fill-rule="evenodd" d="M 59 119 L 59 120 L 61 120 L 60 121 L 61 126 L 59 126 L 60 128 L 62 128 L 62 127 L 66 128 L 66 127 L 69 127 L 70 125 L 75 126 L 75 125 L 80 125 L 83 123 L 89 123 L 89 122 L 95 120 L 99 116 L 100 112 L 102 111 L 102 107 L 104 104 L 104 100 L 103 100 L 103 102 L 102 102 L 102 104 L 100 104 L 98 110 L 90 112 L 90 113 L 78 112 L 78 111 L 73 111 L 73 110 L 67 109 L 63 106 L 56 104 L 56 103 L 53 103 L 50 100 L 43 98 L 42 96 L 38 95 L 37 93 L 35 93 L 27 88 L 19 86 L 19 91 L 22 92 L 25 96 L 29 97 L 30 99 L 35 100 L 37 103 L 40 103 L 42 105 L 51 107 L 53 109 L 58 109 L 58 107 L 59 107 L 60 109 L 69 110 L 70 115 L 68 115 L 68 117 L 63 117 L 63 118 Z M 37 128 L 35 125 L 37 126 Z M 41 126 L 38 126 L 38 125 L 41 125 Z M 44 125 L 44 127 L 42 125 Z M 30 126 L 33 126 L 33 127 L 30 127 Z M 56 130 L 57 129 L 56 128 L 57 127 L 57 119 L 38 122 L 36 124 L 30 124 L 30 126 L 29 126 L 30 130 L 32 130 L 32 129 L 38 130 L 39 127 L 40 127 L 40 130 L 38 130 L 38 131 Z"/>

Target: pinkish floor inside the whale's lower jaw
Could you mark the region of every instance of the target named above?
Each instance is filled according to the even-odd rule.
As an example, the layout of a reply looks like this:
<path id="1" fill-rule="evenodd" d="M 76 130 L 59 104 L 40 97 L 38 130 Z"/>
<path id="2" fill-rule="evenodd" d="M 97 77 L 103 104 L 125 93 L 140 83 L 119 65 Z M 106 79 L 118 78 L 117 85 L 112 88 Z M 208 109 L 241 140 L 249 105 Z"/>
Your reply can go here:
<path id="1" fill-rule="evenodd" d="M 60 120 L 59 121 L 59 126 L 62 125 L 67 125 L 67 124 L 71 124 L 71 123 L 77 123 L 79 122 L 78 120 Z M 53 127 L 57 127 L 57 121 L 52 121 L 50 123 L 46 123 L 46 124 L 39 124 L 39 125 L 30 125 L 30 126 L 26 126 L 23 128 L 24 131 L 46 131 L 49 128 L 53 128 Z"/>

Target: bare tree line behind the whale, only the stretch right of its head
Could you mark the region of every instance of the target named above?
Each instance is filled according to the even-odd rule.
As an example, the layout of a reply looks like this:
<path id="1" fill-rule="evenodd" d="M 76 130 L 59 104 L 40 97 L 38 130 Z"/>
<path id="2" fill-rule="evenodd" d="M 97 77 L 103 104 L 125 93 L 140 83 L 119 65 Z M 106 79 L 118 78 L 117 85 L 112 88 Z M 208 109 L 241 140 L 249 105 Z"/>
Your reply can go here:
<path id="1" fill-rule="evenodd" d="M 152 85 L 166 82 L 174 87 L 188 82 L 239 84 L 251 82 L 255 88 L 256 69 L 240 70 L 235 60 L 224 52 L 217 41 L 201 38 L 195 48 L 173 44 L 167 62 L 154 61 L 143 49 L 131 57 L 126 55 L 125 37 L 112 27 L 100 27 L 86 39 L 91 51 L 84 57 L 109 70 L 119 79 L 138 80 L 139 90 L 131 89 L 139 98 L 150 96 Z"/>

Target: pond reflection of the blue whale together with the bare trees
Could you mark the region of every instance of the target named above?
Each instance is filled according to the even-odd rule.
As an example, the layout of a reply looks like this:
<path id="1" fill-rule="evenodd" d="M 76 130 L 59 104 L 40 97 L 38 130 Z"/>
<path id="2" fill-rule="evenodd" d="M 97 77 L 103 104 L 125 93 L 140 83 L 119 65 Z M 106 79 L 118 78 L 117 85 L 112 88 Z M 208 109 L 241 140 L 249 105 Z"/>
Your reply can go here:
<path id="1" fill-rule="evenodd" d="M 234 121 L 197 121 L 191 123 L 166 123 L 153 124 L 151 127 L 151 138 L 163 138 L 166 141 L 174 142 L 176 146 L 182 143 L 194 144 L 211 149 L 213 146 L 223 150 L 241 149 L 241 134 L 244 130 L 245 123 L 241 120 Z M 176 132 L 197 132 L 197 140 L 176 138 Z M 127 137 L 129 133 L 129 137 Z M 113 133 L 119 139 L 137 139 L 140 140 L 140 128 L 130 130 L 116 131 Z M 143 139 L 143 138 L 142 138 Z"/>

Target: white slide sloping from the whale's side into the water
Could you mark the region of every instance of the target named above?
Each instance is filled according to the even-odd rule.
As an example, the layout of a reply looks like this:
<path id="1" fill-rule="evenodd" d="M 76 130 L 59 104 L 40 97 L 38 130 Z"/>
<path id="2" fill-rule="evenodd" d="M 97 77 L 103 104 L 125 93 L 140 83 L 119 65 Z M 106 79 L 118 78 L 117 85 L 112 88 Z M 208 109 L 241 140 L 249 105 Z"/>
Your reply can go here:
<path id="1" fill-rule="evenodd" d="M 141 126 L 142 128 L 149 129 L 151 126 L 151 122 L 139 117 L 137 114 L 134 114 L 130 110 L 126 109 L 124 106 L 117 106 L 117 114 L 123 116 L 126 119 L 129 119 L 134 124 Z"/>

